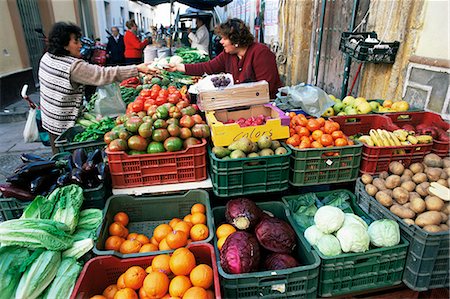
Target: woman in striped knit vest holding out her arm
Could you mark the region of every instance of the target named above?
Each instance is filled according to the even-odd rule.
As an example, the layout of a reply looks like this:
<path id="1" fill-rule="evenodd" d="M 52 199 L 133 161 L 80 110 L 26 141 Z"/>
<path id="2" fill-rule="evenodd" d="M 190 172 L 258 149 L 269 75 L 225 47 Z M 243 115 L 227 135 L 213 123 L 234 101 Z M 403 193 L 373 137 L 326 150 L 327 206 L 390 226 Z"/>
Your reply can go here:
<path id="1" fill-rule="evenodd" d="M 146 64 L 102 67 L 81 59 L 81 29 L 75 24 L 55 23 L 48 36 L 48 50 L 39 63 L 42 126 L 55 139 L 75 125 L 81 111 L 84 85 L 105 85 L 154 73 Z"/>

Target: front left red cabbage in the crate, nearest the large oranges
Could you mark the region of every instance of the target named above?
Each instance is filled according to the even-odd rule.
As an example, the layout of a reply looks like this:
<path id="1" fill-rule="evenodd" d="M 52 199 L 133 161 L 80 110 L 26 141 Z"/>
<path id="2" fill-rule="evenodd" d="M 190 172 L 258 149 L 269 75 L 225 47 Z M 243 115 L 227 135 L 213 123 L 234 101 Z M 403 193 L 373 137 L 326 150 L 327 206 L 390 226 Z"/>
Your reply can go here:
<path id="1" fill-rule="evenodd" d="M 255 236 L 237 231 L 227 237 L 220 251 L 220 265 L 229 274 L 258 270 L 259 244 Z"/>

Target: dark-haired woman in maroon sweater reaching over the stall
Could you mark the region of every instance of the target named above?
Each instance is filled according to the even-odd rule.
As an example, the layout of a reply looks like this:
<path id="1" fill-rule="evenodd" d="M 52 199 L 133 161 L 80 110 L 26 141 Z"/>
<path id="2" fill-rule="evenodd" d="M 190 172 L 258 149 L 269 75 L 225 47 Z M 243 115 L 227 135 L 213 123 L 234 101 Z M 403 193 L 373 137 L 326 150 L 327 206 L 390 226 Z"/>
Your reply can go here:
<path id="1" fill-rule="evenodd" d="M 223 46 L 217 57 L 196 64 L 171 64 L 168 70 L 191 76 L 230 73 L 235 84 L 266 80 L 270 98 L 274 99 L 282 86 L 275 54 L 266 45 L 254 42 L 250 29 L 240 19 L 228 19 L 217 26 L 216 33 L 221 36 Z"/>

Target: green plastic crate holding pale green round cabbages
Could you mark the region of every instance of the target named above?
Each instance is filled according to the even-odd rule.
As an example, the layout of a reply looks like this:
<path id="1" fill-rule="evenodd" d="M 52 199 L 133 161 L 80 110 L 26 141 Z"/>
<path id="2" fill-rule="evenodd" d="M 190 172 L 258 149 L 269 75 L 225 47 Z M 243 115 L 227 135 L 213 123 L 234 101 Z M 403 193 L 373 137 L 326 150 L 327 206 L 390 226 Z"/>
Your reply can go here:
<path id="1" fill-rule="evenodd" d="M 371 223 L 373 219 L 356 204 L 353 193 L 347 190 L 317 192 L 319 199 L 336 191 L 347 192 L 350 195 L 350 206 L 353 212 Z M 298 197 L 290 195 L 283 197 L 287 203 Z M 292 212 L 292 211 L 291 211 Z M 295 224 L 295 228 L 303 235 L 304 229 Z M 329 297 L 394 286 L 402 282 L 402 275 L 408 250 L 408 241 L 401 238 L 398 245 L 392 247 L 370 247 L 362 253 L 343 253 L 337 256 L 325 256 L 317 248 L 320 259 L 319 296 Z M 311 248 L 311 246 L 308 246 Z"/>

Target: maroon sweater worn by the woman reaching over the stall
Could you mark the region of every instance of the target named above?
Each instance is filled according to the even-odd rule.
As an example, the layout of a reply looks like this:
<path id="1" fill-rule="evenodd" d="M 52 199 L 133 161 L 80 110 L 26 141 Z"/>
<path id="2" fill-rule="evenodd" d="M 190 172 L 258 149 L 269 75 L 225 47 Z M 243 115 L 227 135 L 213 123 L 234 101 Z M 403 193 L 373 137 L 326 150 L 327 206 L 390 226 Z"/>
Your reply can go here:
<path id="1" fill-rule="evenodd" d="M 261 43 L 251 44 L 242 59 L 236 54 L 222 52 L 211 61 L 186 64 L 185 68 L 186 74 L 192 76 L 230 73 L 235 84 L 266 80 L 269 82 L 271 99 L 275 98 L 278 88 L 282 86 L 275 55 Z"/>

